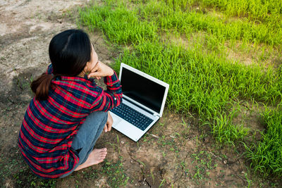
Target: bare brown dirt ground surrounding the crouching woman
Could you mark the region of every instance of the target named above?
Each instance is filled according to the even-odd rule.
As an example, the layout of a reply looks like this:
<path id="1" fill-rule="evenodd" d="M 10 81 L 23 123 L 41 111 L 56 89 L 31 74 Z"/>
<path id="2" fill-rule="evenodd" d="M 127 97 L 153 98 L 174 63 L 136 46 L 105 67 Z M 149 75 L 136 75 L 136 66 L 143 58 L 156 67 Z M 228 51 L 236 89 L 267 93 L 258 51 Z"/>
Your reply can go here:
<path id="1" fill-rule="evenodd" d="M 30 80 L 49 65 L 48 45 L 56 33 L 77 28 L 69 17 L 88 1 L 0 1 L 0 186 L 1 187 L 276 187 L 252 175 L 241 151 L 219 148 L 197 120 L 164 111 L 139 142 L 116 130 L 103 133 L 106 161 L 58 180 L 32 174 L 17 146 L 18 130 L 32 99 Z M 113 63 L 101 33 L 91 34 L 99 59 Z M 110 47 L 110 48 L 109 48 Z"/>

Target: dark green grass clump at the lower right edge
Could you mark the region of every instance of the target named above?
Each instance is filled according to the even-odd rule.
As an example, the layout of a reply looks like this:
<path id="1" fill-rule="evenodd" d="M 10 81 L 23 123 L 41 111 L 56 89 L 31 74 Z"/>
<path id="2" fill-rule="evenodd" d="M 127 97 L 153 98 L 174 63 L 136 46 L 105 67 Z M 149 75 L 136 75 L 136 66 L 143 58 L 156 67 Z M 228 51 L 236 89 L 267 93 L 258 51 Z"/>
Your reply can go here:
<path id="1" fill-rule="evenodd" d="M 265 132 L 262 133 L 262 140 L 252 147 L 247 147 L 247 156 L 252 160 L 252 167 L 255 171 L 264 175 L 282 176 L 282 111 L 266 109 L 262 114 Z"/>

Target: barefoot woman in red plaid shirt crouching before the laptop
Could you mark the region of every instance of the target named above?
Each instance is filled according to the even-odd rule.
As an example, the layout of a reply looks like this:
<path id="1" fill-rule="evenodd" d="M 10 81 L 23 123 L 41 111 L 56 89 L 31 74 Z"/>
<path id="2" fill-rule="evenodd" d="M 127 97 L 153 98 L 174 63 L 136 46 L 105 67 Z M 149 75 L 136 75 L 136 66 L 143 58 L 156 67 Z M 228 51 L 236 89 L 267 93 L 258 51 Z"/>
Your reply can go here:
<path id="1" fill-rule="evenodd" d="M 49 44 L 51 65 L 31 84 L 35 97 L 20 127 L 18 146 L 32 171 L 44 178 L 66 177 L 74 170 L 101 163 L 106 148 L 93 149 L 110 131 L 109 109 L 121 104 L 121 84 L 101 61 L 88 35 L 66 30 Z M 101 79 L 107 90 L 95 84 Z"/>

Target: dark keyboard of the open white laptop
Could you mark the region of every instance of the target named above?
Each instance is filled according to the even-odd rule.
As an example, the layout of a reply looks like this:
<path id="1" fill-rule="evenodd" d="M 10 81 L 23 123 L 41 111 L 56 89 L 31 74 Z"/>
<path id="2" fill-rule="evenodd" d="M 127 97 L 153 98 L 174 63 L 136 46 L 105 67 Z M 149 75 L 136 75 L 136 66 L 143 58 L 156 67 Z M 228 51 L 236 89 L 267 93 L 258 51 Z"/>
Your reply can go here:
<path id="1" fill-rule="evenodd" d="M 145 130 L 153 122 L 151 118 L 148 118 L 146 115 L 143 115 L 142 113 L 123 103 L 120 106 L 116 106 L 115 108 L 111 109 L 110 111 L 140 128 L 140 130 Z"/>

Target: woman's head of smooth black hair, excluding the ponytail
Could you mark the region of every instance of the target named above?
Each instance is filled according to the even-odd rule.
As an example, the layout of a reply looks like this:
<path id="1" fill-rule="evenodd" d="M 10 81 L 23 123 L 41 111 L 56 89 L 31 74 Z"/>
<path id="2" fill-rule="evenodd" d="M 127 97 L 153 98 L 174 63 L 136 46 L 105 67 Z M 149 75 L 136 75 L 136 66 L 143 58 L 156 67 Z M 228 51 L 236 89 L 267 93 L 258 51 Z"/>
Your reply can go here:
<path id="1" fill-rule="evenodd" d="M 49 44 L 54 75 L 76 76 L 91 60 L 92 44 L 82 30 L 61 32 Z"/>

